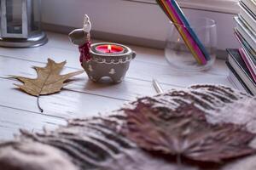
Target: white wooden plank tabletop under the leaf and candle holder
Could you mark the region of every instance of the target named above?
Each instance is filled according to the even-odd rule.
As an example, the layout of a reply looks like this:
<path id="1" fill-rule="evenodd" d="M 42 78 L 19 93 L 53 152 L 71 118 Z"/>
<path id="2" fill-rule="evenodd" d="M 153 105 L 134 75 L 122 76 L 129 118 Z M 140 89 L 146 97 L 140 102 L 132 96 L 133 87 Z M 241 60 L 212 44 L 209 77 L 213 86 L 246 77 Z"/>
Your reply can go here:
<path id="1" fill-rule="evenodd" d="M 175 72 L 164 58 L 164 51 L 130 46 L 137 52 L 124 82 L 116 85 L 90 82 L 84 73 L 58 94 L 37 99 L 20 92 L 6 79 L 9 75 L 36 77 L 32 65 L 44 66 L 47 58 L 56 62 L 67 60 L 63 73 L 82 69 L 79 51 L 66 35 L 48 32 L 49 42 L 39 48 L 0 48 L 0 139 L 11 139 L 20 128 L 41 131 L 66 124 L 67 118 L 96 116 L 112 111 L 125 102 L 143 95 L 156 94 L 152 78 L 157 78 L 164 90 L 185 88 L 196 83 L 218 83 L 232 87 L 227 79 L 224 60 L 217 60 L 212 70 L 201 73 Z"/>

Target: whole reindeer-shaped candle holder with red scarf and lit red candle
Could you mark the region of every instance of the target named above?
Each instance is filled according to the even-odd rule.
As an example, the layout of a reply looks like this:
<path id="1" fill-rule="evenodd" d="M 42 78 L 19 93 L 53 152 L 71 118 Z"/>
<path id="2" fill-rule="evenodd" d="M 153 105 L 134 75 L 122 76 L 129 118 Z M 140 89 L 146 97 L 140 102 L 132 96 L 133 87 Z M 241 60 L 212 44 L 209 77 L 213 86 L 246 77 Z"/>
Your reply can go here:
<path id="1" fill-rule="evenodd" d="M 136 53 L 117 43 L 90 44 L 90 29 L 90 18 L 85 14 L 83 28 L 68 35 L 71 42 L 79 46 L 80 62 L 84 71 L 93 82 L 98 82 L 102 77 L 110 77 L 114 83 L 122 82 Z"/>

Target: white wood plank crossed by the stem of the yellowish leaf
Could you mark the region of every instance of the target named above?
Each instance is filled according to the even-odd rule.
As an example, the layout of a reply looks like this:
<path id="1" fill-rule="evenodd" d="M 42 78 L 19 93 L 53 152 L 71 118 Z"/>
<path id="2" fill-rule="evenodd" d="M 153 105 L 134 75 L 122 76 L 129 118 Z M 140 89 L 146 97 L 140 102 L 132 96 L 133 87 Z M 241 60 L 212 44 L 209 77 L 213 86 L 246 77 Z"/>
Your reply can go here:
<path id="1" fill-rule="evenodd" d="M 0 89 L 1 105 L 39 113 L 37 98 L 17 90 L 13 81 L 0 79 Z M 119 99 L 68 90 L 40 97 L 44 114 L 63 118 L 96 116 L 99 112 L 116 110 L 124 103 L 125 101 Z"/>

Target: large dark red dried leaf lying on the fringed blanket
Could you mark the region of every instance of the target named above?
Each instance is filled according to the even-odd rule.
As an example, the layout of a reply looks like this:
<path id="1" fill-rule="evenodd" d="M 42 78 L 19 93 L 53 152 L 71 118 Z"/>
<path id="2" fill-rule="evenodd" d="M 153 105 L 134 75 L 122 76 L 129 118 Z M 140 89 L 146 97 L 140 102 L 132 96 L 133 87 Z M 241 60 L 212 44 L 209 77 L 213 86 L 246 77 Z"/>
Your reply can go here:
<path id="1" fill-rule="evenodd" d="M 194 105 L 164 114 L 144 104 L 124 111 L 127 121 L 122 133 L 144 150 L 207 162 L 255 153 L 248 146 L 255 134 L 232 123 L 212 125 Z"/>

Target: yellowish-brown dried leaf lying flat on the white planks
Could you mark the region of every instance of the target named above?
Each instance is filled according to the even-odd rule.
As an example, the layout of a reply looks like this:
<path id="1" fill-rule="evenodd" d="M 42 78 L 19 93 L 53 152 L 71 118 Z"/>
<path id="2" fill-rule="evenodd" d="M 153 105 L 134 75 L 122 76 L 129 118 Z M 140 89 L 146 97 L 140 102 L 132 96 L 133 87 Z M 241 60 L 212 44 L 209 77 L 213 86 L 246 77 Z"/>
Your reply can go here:
<path id="1" fill-rule="evenodd" d="M 67 83 L 67 79 L 77 76 L 84 71 L 74 71 L 65 75 L 60 75 L 66 61 L 61 63 L 55 63 L 54 60 L 48 59 L 48 63 L 45 67 L 34 66 L 33 68 L 37 71 L 37 78 L 26 78 L 26 77 L 17 77 L 12 76 L 13 78 L 23 82 L 24 84 L 15 84 L 21 90 L 27 94 L 37 96 L 39 99 L 40 95 L 44 94 L 54 94 L 61 91 Z M 43 109 L 39 106 L 41 112 Z"/>

